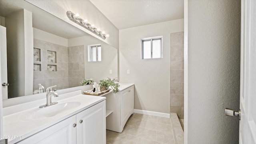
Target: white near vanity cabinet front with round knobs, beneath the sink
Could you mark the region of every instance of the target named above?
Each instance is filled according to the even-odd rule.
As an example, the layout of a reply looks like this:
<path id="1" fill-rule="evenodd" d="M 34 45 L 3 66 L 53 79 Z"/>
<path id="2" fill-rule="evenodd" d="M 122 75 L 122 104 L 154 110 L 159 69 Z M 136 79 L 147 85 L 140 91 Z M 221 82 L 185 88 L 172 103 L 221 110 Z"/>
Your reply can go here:
<path id="1" fill-rule="evenodd" d="M 18 142 L 18 144 L 106 144 L 106 101 Z"/>

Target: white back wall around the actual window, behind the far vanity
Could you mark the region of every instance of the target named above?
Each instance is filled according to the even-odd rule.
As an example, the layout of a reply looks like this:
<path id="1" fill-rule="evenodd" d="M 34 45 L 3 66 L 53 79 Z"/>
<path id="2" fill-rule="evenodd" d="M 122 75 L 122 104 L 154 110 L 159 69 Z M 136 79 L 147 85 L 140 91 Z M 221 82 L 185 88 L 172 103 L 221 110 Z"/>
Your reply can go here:
<path id="1" fill-rule="evenodd" d="M 120 82 L 135 84 L 134 109 L 170 114 L 170 34 L 183 30 L 179 19 L 119 31 Z M 154 36 L 163 36 L 163 58 L 142 60 L 140 39 Z"/>

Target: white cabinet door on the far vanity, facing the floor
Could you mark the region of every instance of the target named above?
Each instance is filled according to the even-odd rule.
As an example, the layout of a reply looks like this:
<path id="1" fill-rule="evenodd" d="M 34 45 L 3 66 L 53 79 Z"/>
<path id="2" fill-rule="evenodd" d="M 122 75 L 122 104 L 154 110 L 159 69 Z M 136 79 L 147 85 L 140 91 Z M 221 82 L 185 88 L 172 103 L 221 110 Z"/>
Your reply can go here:
<path id="1" fill-rule="evenodd" d="M 134 112 L 134 86 L 121 92 L 121 125 L 124 128 L 128 118 Z"/>

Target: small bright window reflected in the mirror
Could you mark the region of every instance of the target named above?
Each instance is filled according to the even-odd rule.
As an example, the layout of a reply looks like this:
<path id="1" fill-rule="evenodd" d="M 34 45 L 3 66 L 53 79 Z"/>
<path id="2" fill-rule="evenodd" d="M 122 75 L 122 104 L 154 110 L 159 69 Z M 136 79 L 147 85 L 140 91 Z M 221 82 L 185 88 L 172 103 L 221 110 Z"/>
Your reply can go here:
<path id="1" fill-rule="evenodd" d="M 101 61 L 101 45 L 88 46 L 88 62 Z"/>

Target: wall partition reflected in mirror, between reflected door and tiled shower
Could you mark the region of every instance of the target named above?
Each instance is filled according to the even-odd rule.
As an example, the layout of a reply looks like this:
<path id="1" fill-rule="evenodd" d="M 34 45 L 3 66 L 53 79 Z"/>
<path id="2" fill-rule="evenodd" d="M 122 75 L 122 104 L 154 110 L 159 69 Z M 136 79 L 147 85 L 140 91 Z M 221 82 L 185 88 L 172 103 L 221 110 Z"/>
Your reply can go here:
<path id="1" fill-rule="evenodd" d="M 15 21 L 15 22 L 14 22 Z M 7 31 L 8 96 L 24 96 L 33 92 L 32 13 L 20 10 L 5 18 Z M 13 39 L 16 39 L 15 42 Z"/>

